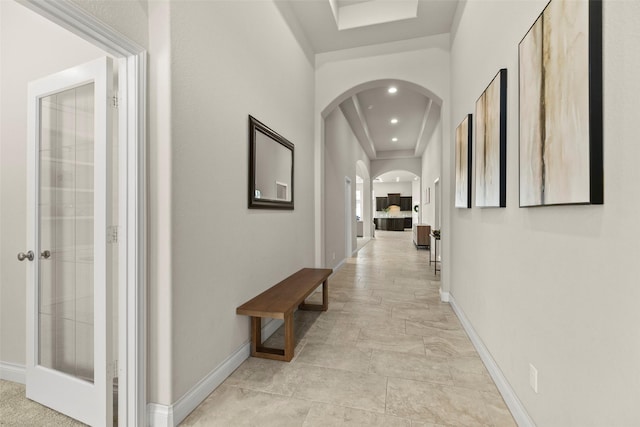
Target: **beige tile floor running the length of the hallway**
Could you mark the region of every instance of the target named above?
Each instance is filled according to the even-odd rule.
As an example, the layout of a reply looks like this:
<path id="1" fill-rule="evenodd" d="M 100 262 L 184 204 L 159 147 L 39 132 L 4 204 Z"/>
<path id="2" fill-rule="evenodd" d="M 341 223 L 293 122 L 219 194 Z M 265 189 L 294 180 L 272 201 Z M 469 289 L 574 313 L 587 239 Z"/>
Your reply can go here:
<path id="1" fill-rule="evenodd" d="M 376 232 L 330 279 L 329 311 L 296 313 L 290 363 L 249 358 L 181 425 L 515 426 L 411 236 Z"/>

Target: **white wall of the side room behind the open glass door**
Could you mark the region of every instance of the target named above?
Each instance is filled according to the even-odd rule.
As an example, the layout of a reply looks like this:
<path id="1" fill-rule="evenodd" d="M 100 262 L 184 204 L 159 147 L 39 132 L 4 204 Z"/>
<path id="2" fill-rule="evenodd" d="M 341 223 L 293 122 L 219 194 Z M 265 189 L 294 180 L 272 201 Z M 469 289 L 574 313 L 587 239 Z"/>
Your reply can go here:
<path id="1" fill-rule="evenodd" d="M 27 84 L 105 56 L 12 2 L 0 2 L 0 361 L 26 363 Z"/>

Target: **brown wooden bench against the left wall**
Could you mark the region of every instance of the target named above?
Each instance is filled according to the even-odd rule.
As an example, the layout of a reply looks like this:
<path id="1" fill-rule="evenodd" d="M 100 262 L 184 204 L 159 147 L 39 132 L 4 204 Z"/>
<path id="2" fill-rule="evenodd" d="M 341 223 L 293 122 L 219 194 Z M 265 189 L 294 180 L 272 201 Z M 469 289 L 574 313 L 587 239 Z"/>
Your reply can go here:
<path id="1" fill-rule="evenodd" d="M 333 270 L 330 268 L 303 268 L 236 309 L 236 314 L 251 316 L 252 356 L 286 362 L 293 359 L 295 348 L 293 313 L 296 308 L 327 311 L 329 308 L 327 279 L 332 272 Z M 306 304 L 305 299 L 321 283 L 322 304 Z M 262 345 L 263 317 L 284 320 L 284 350 Z"/>

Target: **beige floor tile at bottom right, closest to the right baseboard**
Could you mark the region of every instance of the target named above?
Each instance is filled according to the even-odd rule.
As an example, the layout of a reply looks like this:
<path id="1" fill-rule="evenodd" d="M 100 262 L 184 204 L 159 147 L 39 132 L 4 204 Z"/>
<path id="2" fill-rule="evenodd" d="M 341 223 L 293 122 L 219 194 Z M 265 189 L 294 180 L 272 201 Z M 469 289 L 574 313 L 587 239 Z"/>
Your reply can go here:
<path id="1" fill-rule="evenodd" d="M 387 413 L 461 427 L 489 426 L 492 423 L 477 391 L 396 378 L 389 378 Z"/>

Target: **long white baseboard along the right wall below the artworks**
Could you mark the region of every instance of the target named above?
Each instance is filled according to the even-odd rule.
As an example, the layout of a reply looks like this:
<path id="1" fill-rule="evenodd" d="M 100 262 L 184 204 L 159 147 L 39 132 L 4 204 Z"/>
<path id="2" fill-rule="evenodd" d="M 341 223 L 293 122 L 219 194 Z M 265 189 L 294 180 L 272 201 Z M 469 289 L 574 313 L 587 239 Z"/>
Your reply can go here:
<path id="1" fill-rule="evenodd" d="M 441 291 L 441 295 L 442 295 L 442 291 Z M 487 370 L 489 371 L 489 375 L 491 375 L 491 378 L 493 378 L 493 381 L 496 383 L 496 386 L 498 387 L 498 390 L 500 391 L 502 398 L 507 404 L 509 411 L 511 411 L 511 415 L 513 415 L 513 418 L 515 419 L 518 426 L 519 427 L 535 427 L 536 424 L 533 422 L 533 420 L 527 413 L 527 410 L 525 409 L 520 399 L 518 399 L 518 396 L 516 395 L 513 388 L 511 388 L 511 384 L 509 384 L 509 381 L 507 381 L 507 378 L 504 376 L 504 374 L 500 370 L 500 367 L 498 366 L 496 361 L 493 360 L 493 356 L 491 356 L 489 349 L 484 345 L 484 343 L 482 342 L 482 339 L 480 338 L 478 333 L 475 331 L 475 329 L 473 329 L 473 326 L 471 325 L 471 322 L 469 321 L 467 316 L 456 304 L 456 300 L 453 297 L 453 295 L 450 295 L 447 292 L 447 297 L 449 300 L 449 304 L 451 304 L 451 308 L 453 308 L 453 311 L 456 313 L 456 316 L 458 316 L 458 319 L 460 319 L 460 323 L 462 323 L 462 327 L 467 332 L 467 335 L 469 335 L 469 338 L 471 339 L 473 346 L 478 351 L 478 354 L 480 355 L 482 362 L 484 363 Z"/>

